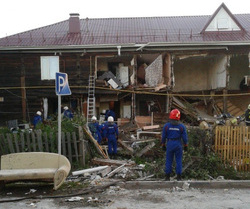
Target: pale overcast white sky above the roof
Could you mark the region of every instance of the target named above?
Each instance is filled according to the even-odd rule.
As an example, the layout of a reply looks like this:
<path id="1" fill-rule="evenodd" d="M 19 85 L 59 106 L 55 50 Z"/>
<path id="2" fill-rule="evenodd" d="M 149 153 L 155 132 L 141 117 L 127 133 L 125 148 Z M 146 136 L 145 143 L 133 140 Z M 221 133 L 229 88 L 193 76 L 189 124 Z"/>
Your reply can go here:
<path id="1" fill-rule="evenodd" d="M 223 2 L 233 14 L 250 13 L 250 0 L 8 0 L 1 4 L 0 38 L 67 20 L 70 13 L 80 19 L 212 15 Z"/>

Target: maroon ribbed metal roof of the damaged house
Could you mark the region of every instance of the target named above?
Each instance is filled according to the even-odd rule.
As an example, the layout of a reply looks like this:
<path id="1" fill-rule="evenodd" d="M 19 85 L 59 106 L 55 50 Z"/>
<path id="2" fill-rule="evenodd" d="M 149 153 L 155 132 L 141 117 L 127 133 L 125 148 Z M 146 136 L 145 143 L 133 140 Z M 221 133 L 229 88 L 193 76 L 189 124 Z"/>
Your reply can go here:
<path id="1" fill-rule="evenodd" d="M 211 16 L 80 19 L 80 34 L 69 34 L 69 20 L 0 39 L 3 47 L 209 44 L 250 41 L 250 14 L 234 15 L 245 31 L 201 33 Z M 97 46 L 97 47 L 98 47 Z"/>

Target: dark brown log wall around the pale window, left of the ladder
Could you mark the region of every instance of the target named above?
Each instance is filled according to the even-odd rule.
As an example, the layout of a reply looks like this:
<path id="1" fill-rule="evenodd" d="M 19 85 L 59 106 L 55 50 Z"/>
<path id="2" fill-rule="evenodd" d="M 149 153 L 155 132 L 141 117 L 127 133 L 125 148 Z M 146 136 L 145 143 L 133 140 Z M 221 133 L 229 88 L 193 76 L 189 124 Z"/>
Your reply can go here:
<path id="1" fill-rule="evenodd" d="M 54 53 L 0 56 L 0 97 L 4 98 L 0 102 L 0 126 L 14 119 L 19 123 L 24 123 L 24 120 L 32 122 L 36 111 L 42 110 L 43 98 L 48 98 L 49 105 L 50 100 L 56 101 L 55 80 L 41 80 L 40 64 L 41 56 L 55 56 Z M 70 86 L 88 86 L 90 57 L 80 56 L 79 53 L 62 53 L 59 56 L 60 72 L 68 74 Z M 26 91 L 21 87 L 25 87 Z M 76 98 L 87 94 L 86 87 L 71 88 L 71 91 L 72 97 Z"/>

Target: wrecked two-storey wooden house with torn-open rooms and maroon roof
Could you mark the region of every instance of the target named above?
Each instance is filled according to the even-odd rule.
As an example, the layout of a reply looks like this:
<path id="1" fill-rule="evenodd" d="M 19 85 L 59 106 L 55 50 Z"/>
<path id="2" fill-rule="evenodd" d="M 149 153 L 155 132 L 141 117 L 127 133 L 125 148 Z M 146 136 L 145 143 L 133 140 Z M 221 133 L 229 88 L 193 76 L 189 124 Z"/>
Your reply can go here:
<path id="1" fill-rule="evenodd" d="M 167 113 L 174 105 L 184 109 L 177 97 L 201 101 L 210 115 L 219 98 L 221 111 L 228 112 L 229 100 L 250 103 L 249 22 L 250 14 L 234 15 L 221 4 L 204 16 L 70 14 L 1 38 L 0 123 L 31 122 L 37 110 L 45 119 L 55 114 L 55 72 L 68 74 L 72 91 L 62 104 L 85 117 L 108 108 L 128 119 Z"/>

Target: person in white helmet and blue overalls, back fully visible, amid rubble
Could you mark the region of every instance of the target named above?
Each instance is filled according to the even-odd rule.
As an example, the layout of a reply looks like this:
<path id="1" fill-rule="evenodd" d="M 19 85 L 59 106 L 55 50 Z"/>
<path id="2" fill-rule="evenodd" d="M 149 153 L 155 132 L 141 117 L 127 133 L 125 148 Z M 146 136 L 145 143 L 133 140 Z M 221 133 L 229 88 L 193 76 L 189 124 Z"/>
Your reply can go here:
<path id="1" fill-rule="evenodd" d="M 108 139 L 108 154 L 110 158 L 116 158 L 118 134 L 118 126 L 114 123 L 114 118 L 109 116 L 108 122 L 105 124 L 104 137 Z"/>

